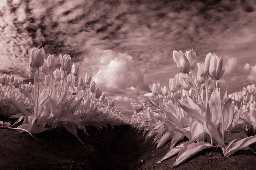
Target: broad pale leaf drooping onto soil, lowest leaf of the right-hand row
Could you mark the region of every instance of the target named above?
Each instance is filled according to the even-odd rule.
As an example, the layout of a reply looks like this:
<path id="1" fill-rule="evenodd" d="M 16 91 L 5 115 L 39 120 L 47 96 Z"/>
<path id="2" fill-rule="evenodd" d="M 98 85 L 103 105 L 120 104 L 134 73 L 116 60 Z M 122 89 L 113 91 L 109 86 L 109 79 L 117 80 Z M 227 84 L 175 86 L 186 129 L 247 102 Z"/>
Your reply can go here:
<path id="1" fill-rule="evenodd" d="M 175 167 L 175 166 L 185 162 L 188 158 L 190 158 L 191 156 L 195 155 L 196 153 L 202 151 L 203 149 L 212 148 L 212 147 L 214 147 L 214 146 L 212 146 L 210 143 L 206 143 L 203 141 L 200 141 L 198 143 L 191 143 L 181 149 L 180 152 L 182 152 L 183 150 L 184 150 L 184 152 L 182 154 L 178 155 L 178 157 L 175 160 L 172 167 Z"/>

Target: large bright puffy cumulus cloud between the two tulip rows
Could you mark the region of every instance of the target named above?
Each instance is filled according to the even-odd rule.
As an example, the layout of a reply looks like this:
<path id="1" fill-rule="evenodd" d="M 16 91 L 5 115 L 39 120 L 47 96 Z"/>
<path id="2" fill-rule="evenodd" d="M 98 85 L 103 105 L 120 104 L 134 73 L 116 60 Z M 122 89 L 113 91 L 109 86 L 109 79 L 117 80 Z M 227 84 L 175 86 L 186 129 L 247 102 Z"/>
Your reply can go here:
<path id="1" fill-rule="evenodd" d="M 92 72 L 94 81 L 101 87 L 135 90 L 144 83 L 144 69 L 134 67 L 133 63 L 133 58 L 126 53 L 96 49 L 84 58 L 81 68 Z"/>

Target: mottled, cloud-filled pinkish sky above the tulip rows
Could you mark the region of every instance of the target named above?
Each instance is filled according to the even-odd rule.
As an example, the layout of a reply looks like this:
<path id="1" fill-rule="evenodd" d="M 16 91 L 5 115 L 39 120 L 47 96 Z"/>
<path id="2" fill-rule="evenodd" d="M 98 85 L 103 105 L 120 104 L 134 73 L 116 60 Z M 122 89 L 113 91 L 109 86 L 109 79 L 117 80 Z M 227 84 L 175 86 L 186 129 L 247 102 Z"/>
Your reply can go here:
<path id="1" fill-rule="evenodd" d="M 255 27 L 254 0 L 1 0 L 0 73 L 28 79 L 32 47 L 67 53 L 129 120 L 130 102 L 179 72 L 173 50 L 223 56 L 229 94 L 255 83 Z"/>

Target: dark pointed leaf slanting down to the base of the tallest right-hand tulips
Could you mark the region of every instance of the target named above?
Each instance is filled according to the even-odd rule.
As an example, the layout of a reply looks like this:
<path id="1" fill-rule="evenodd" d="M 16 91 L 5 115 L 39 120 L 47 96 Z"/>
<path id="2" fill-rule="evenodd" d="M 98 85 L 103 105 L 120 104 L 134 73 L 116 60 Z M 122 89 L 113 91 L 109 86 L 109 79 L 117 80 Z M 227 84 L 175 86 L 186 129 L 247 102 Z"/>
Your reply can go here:
<path id="1" fill-rule="evenodd" d="M 218 142 L 218 144 L 222 147 L 225 147 L 224 141 L 219 136 L 219 133 L 211 120 L 211 111 L 208 103 L 205 111 L 205 125 L 207 130 L 210 132 L 210 135 L 212 135 L 212 137 Z"/>

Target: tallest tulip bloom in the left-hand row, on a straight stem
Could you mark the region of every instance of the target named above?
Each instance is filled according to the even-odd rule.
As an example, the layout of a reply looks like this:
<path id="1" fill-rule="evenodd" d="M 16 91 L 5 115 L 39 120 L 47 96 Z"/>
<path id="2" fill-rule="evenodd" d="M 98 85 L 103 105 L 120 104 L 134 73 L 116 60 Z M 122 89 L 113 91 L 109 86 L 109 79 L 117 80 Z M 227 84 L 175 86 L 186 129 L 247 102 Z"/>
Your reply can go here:
<path id="1" fill-rule="evenodd" d="M 29 64 L 31 67 L 40 68 L 44 64 L 44 49 L 28 49 Z"/>

